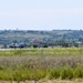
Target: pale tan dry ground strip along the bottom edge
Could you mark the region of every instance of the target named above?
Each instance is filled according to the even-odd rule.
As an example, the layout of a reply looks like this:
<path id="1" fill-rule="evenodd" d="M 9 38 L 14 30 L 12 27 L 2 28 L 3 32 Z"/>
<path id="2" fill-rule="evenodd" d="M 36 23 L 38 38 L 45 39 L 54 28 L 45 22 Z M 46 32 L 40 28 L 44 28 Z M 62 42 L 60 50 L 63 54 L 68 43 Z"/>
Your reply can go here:
<path id="1" fill-rule="evenodd" d="M 83 83 L 82 79 L 75 79 L 75 80 L 40 80 L 40 81 L 0 81 L 0 83 Z"/>

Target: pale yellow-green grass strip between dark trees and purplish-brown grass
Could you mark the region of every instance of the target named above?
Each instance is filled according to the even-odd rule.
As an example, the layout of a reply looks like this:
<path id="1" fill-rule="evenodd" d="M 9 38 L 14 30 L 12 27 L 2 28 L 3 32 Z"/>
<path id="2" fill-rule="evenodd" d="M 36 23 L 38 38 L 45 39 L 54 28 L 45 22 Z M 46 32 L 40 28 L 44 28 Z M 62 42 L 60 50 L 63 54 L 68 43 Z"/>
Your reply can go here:
<path id="1" fill-rule="evenodd" d="M 0 51 L 0 55 L 83 55 L 83 48 L 29 48 Z"/>

